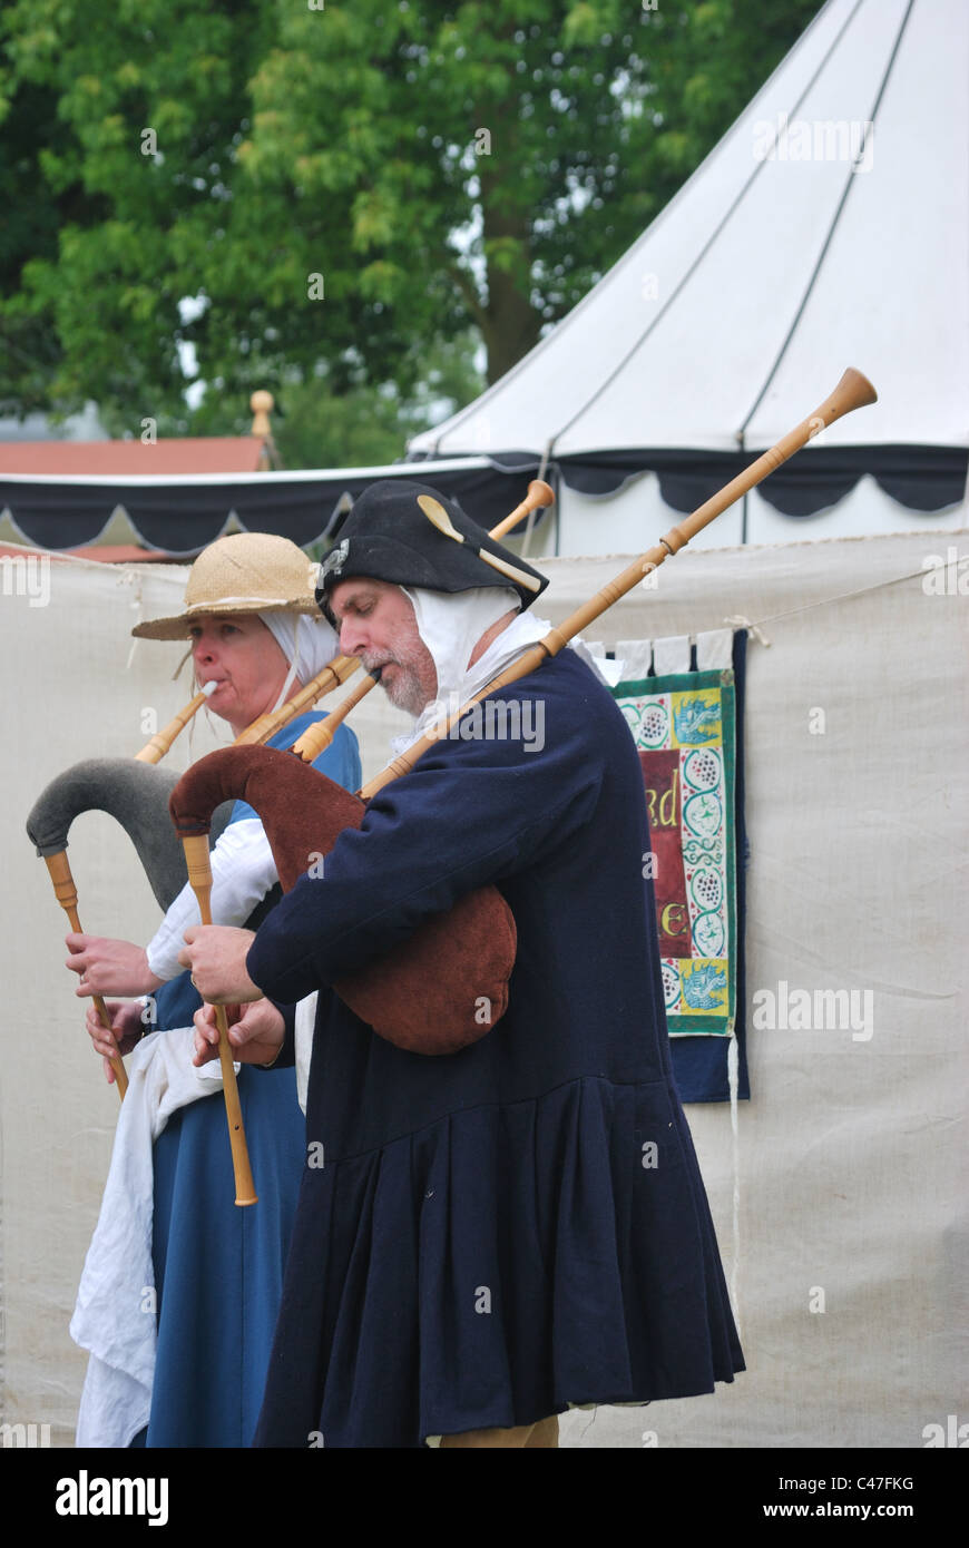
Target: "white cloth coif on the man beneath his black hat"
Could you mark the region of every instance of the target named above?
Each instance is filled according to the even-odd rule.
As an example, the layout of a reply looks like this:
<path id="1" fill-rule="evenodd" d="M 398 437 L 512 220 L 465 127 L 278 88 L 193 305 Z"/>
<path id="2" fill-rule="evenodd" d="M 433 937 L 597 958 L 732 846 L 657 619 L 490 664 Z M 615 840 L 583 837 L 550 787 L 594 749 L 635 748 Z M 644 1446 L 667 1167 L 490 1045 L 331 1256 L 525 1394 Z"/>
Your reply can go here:
<path id="1" fill-rule="evenodd" d="M 531 611 L 515 618 L 492 639 L 472 667 L 467 661 L 486 630 L 511 608 L 520 607 L 519 593 L 511 587 L 484 585 L 471 591 L 426 591 L 401 587 L 413 605 L 418 633 L 430 652 L 438 673 L 437 698 L 426 704 L 413 728 L 393 738 L 395 754 L 404 752 L 443 715 L 452 715 L 467 703 L 492 676 L 542 639 L 551 624 Z"/>

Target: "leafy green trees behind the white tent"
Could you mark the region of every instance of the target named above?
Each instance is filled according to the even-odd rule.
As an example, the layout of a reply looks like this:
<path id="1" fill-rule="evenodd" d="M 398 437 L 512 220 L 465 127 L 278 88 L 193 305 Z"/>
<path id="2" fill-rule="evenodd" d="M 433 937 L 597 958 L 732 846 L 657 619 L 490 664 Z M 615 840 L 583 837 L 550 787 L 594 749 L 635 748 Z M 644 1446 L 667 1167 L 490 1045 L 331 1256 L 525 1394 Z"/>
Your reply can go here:
<path id="1" fill-rule="evenodd" d="M 217 430 L 252 387 L 296 407 L 322 375 L 416 412 L 433 341 L 469 328 L 494 381 L 816 9 L 8 0 L 0 410 Z M 193 418 L 180 345 L 209 384 Z"/>

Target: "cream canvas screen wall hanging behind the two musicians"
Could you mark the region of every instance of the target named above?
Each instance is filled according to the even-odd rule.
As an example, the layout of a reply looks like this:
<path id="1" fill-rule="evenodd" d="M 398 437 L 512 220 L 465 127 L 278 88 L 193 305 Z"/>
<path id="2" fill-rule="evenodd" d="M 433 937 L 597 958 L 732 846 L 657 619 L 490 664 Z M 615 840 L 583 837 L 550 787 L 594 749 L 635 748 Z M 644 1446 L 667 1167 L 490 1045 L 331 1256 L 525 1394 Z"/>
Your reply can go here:
<path id="1" fill-rule="evenodd" d="M 737 1164 L 729 1110 L 689 1108 L 749 1370 L 707 1398 L 574 1413 L 568 1446 L 923 1446 L 927 1424 L 964 1409 L 969 598 L 919 579 L 952 543 L 969 551 L 969 534 L 686 551 L 594 628 L 613 646 L 772 619 L 769 647 L 749 646 L 749 997 L 782 980 L 870 991 L 873 1036 L 751 1031 Z M 545 562 L 540 610 L 560 621 L 622 563 Z M 175 567 L 57 560 L 46 605 L 8 584 L 0 596 L 0 1418 L 50 1424 L 54 1444 L 73 1440 L 85 1359 L 67 1327 L 118 1098 L 88 1051 L 67 920 L 23 819 L 68 765 L 136 751 L 146 707 L 164 723 L 187 700 L 187 680 L 169 681 L 176 646 L 142 642 L 125 667 L 132 624 L 173 611 L 183 585 Z M 399 724 L 370 695 L 365 774 Z M 214 741 L 200 726 L 178 766 Z M 90 813 L 68 853 L 85 929 L 147 940 L 156 906 L 127 836 Z"/>

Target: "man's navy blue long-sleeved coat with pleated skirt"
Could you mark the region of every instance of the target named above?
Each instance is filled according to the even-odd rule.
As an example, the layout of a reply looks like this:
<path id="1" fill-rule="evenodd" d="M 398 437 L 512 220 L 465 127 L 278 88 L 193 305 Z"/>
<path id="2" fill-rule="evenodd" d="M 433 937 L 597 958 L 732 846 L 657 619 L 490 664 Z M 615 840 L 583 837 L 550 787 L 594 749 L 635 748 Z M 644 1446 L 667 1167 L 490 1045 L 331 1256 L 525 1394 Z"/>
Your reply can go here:
<path id="1" fill-rule="evenodd" d="M 404 1053 L 320 992 L 317 1164 L 257 1444 L 419 1446 L 743 1368 L 672 1084 L 628 729 L 571 652 L 495 697 L 540 706 L 545 746 L 438 743 L 248 957 L 291 1003 L 486 882 L 519 932 L 505 1017 L 454 1056 Z"/>

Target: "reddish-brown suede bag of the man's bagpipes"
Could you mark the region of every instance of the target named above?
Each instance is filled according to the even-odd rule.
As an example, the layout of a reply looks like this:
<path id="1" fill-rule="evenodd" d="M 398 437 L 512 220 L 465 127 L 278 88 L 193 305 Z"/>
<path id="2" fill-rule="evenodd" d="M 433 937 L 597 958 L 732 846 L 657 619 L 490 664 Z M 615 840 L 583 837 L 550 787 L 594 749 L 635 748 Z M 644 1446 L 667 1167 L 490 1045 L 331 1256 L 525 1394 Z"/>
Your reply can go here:
<path id="1" fill-rule="evenodd" d="M 276 748 L 223 748 L 200 759 L 172 791 L 180 837 L 207 833 L 223 800 L 259 813 L 283 892 L 296 885 L 313 850 L 328 854 L 344 828 L 361 828 L 365 803 Z M 419 1054 L 452 1054 L 484 1037 L 508 1008 L 515 921 L 497 887 L 467 893 L 409 940 L 334 983 L 341 1000 L 375 1033 Z M 481 1022 L 483 1002 L 489 1019 Z"/>

